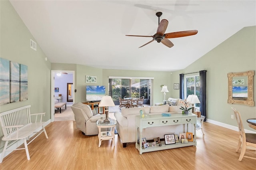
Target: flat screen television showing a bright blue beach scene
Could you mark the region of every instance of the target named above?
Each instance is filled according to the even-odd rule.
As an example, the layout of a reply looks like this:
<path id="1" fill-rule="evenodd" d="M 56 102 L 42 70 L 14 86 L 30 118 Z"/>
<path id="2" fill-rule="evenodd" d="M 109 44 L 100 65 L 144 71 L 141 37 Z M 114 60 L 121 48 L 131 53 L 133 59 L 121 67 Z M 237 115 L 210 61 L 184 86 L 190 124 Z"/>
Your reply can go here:
<path id="1" fill-rule="evenodd" d="M 101 101 L 106 95 L 106 86 L 87 85 L 86 86 L 86 101 Z"/>

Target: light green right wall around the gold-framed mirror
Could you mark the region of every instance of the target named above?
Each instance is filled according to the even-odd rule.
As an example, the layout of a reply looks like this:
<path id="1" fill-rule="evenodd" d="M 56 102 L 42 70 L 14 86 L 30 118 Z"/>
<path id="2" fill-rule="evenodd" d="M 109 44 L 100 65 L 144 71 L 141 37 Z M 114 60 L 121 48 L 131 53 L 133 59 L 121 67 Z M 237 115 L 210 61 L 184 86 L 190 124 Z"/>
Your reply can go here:
<path id="1" fill-rule="evenodd" d="M 179 81 L 180 73 L 200 70 L 207 70 L 207 118 L 237 126 L 236 119 L 231 119 L 233 115 L 231 107 L 235 107 L 242 115 L 244 127 L 253 130 L 248 127 L 246 120 L 256 117 L 256 106 L 228 104 L 228 73 L 254 70 L 256 74 L 256 26 L 243 28 L 186 69 L 173 72 L 172 82 Z M 254 103 L 256 101 L 255 85 L 256 77 L 254 76 Z M 179 97 L 179 93 L 175 91 L 174 97 Z"/>

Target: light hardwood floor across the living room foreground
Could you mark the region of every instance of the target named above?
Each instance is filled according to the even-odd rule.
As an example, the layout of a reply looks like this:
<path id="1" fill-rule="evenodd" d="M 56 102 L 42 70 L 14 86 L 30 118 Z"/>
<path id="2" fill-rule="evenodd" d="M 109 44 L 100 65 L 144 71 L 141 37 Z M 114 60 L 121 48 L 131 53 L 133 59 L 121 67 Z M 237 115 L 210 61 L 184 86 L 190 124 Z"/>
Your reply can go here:
<path id="1" fill-rule="evenodd" d="M 256 160 L 238 161 L 238 132 L 204 123 L 204 133 L 197 131 L 197 146 L 147 152 L 142 155 L 130 143 L 126 148 L 116 134 L 115 144 L 98 136 L 84 136 L 75 122 L 61 121 L 46 127 L 48 139 L 40 134 L 30 145 L 30 160 L 25 150 L 16 150 L 0 164 L 1 170 L 255 170 Z M 256 156 L 252 150 L 246 155 Z"/>

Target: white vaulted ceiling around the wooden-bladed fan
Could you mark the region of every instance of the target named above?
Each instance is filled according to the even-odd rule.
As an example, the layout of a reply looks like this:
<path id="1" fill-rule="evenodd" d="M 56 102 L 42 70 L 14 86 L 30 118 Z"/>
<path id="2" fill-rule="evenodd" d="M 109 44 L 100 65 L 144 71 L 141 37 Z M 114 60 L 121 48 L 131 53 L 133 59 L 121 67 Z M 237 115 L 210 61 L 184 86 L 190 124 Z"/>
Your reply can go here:
<path id="1" fill-rule="evenodd" d="M 10 0 L 52 63 L 103 69 L 175 71 L 184 69 L 246 26 L 256 25 L 256 1 L 244 0 Z M 166 33 L 198 30 L 169 39 L 152 38 L 160 20 Z"/>

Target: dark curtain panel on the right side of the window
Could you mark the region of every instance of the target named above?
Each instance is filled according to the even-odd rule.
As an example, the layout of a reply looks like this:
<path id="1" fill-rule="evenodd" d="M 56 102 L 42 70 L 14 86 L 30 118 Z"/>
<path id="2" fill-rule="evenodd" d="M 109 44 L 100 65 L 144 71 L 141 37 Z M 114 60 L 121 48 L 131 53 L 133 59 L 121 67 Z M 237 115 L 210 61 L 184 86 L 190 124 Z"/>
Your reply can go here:
<path id="1" fill-rule="evenodd" d="M 201 98 L 200 111 L 201 111 L 201 115 L 204 115 L 205 117 L 206 117 L 206 72 L 207 72 L 207 70 L 199 71 L 200 98 Z M 204 119 L 204 121 L 206 121 L 206 118 Z"/>

